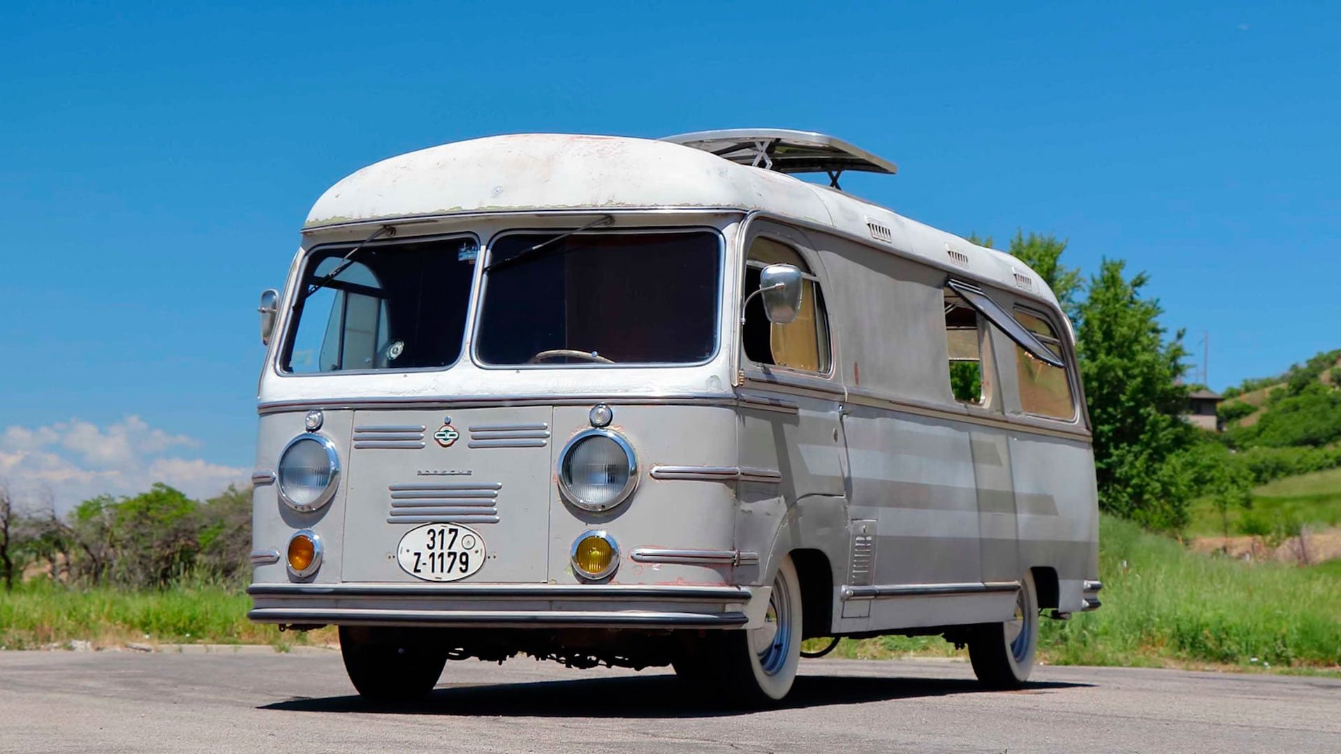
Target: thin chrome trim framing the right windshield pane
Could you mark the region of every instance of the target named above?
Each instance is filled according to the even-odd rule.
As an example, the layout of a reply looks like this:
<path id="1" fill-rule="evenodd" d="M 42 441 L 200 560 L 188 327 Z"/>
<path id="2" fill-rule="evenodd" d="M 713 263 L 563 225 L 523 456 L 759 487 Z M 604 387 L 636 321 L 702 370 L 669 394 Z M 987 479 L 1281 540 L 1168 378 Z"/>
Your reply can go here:
<path id="1" fill-rule="evenodd" d="M 589 213 L 590 215 L 590 213 Z M 571 232 L 573 228 L 508 228 L 506 231 L 499 231 L 489 236 L 488 244 L 480 250 L 477 262 L 479 278 L 476 280 L 477 294 L 471 298 L 475 311 L 471 315 L 469 337 L 471 337 L 471 362 L 480 369 L 487 369 L 491 372 L 496 370 L 518 370 L 518 369 L 677 369 L 677 368 L 693 368 L 693 366 L 707 366 L 721 356 L 721 323 L 724 318 L 721 315 L 723 309 L 723 295 L 727 284 L 727 237 L 723 235 L 721 228 L 715 228 L 712 225 L 636 225 L 636 227 L 606 227 L 599 231 L 586 231 L 598 235 L 652 235 L 652 233 L 691 233 L 691 232 L 708 232 L 717 239 L 717 305 L 716 305 L 716 322 L 712 330 L 712 353 L 703 361 L 649 361 L 649 362 L 617 362 L 617 364 L 488 364 L 480 358 L 480 325 L 484 322 L 484 297 L 488 295 L 488 278 L 484 275 L 484 270 L 492 263 L 493 246 L 499 239 L 510 235 L 520 233 L 563 233 Z"/>

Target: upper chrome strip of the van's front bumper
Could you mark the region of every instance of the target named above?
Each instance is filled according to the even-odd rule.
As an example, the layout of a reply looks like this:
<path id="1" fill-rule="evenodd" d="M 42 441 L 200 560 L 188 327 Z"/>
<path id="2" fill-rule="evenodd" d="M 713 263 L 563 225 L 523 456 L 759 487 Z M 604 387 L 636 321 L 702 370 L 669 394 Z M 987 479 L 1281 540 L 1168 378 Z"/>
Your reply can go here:
<path id="1" fill-rule="evenodd" d="M 748 586 L 649 586 L 642 584 L 252 584 L 252 597 L 345 598 L 430 597 L 433 600 L 669 600 L 748 602 Z"/>

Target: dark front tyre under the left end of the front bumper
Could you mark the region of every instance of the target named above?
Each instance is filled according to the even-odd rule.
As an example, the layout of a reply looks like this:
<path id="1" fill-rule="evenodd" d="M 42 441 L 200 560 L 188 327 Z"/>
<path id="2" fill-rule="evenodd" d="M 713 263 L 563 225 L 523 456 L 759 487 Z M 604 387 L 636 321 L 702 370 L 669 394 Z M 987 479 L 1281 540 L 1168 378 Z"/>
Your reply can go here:
<path id="1" fill-rule="evenodd" d="M 447 648 L 416 629 L 342 625 L 339 649 L 349 680 L 370 702 L 421 699 L 447 664 Z"/>

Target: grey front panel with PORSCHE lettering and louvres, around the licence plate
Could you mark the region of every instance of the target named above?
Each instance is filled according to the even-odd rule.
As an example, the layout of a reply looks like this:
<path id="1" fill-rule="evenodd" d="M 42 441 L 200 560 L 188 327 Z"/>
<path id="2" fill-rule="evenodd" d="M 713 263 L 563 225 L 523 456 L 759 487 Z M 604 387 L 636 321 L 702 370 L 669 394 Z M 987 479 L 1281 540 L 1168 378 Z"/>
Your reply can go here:
<path id="1" fill-rule="evenodd" d="M 550 407 L 357 411 L 345 513 L 345 581 L 417 581 L 397 561 L 424 523 L 484 539 L 468 581 L 548 578 Z"/>

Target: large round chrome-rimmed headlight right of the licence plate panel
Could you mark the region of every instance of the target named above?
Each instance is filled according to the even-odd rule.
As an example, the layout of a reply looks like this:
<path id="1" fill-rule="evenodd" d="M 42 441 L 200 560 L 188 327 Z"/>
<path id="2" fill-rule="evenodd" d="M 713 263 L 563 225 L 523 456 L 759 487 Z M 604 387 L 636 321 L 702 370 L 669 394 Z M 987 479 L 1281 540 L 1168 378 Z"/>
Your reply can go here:
<path id="1" fill-rule="evenodd" d="M 622 503 L 638 483 L 638 462 L 628 440 L 609 429 L 587 429 L 559 453 L 559 491 L 587 511 Z"/>

